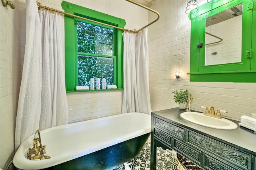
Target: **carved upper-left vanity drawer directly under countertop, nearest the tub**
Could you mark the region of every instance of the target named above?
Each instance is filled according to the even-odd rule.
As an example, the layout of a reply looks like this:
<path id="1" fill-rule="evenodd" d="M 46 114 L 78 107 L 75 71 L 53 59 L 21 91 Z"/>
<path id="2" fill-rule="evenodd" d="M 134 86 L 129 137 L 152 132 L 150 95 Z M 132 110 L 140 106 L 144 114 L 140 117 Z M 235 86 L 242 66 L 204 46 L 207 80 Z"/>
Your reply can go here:
<path id="1" fill-rule="evenodd" d="M 184 140 L 184 132 L 185 132 L 184 127 L 180 127 L 178 125 L 168 123 L 162 119 L 159 119 L 158 117 L 154 118 L 154 125 L 162 128 L 165 132 L 170 133 L 175 137 Z"/>

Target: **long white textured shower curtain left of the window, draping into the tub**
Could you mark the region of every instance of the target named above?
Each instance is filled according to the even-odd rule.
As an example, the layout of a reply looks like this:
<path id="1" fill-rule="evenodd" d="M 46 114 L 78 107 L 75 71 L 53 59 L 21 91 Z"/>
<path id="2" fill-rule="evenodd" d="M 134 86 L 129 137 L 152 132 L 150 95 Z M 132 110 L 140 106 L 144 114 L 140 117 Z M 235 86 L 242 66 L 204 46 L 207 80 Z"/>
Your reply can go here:
<path id="1" fill-rule="evenodd" d="M 18 101 L 15 150 L 36 130 L 68 123 L 60 21 L 26 0 L 26 47 Z"/>

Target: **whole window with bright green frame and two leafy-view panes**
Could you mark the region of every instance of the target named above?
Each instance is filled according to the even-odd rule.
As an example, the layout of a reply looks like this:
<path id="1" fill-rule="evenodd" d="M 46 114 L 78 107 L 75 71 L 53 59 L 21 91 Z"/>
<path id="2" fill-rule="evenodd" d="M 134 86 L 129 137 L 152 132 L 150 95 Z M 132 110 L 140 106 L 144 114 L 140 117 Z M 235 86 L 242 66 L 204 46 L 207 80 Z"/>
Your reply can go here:
<path id="1" fill-rule="evenodd" d="M 65 12 L 124 27 L 125 20 L 62 1 Z M 66 92 L 90 86 L 90 78 L 106 78 L 106 84 L 123 88 L 122 30 L 92 21 L 65 16 Z M 96 89 L 96 88 L 95 88 Z"/>

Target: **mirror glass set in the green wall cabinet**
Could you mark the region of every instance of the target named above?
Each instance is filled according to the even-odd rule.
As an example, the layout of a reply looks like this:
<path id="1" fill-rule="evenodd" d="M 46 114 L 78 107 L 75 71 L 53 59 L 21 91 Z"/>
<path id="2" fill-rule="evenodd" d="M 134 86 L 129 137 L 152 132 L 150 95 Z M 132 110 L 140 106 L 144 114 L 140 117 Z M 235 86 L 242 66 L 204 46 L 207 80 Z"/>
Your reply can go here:
<path id="1" fill-rule="evenodd" d="M 242 4 L 206 18 L 205 66 L 242 59 Z"/>

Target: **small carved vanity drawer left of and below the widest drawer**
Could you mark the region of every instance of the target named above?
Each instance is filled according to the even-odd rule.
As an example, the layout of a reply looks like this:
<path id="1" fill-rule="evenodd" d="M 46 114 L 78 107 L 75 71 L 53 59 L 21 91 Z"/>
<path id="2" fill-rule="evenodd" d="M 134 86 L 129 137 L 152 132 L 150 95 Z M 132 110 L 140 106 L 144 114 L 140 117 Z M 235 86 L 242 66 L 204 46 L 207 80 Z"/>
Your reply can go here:
<path id="1" fill-rule="evenodd" d="M 182 154 L 189 160 L 191 160 L 194 163 L 201 164 L 202 160 L 202 152 L 196 149 L 192 149 L 192 147 L 187 146 L 181 141 L 175 140 L 174 141 L 174 150 L 176 152 Z"/>

